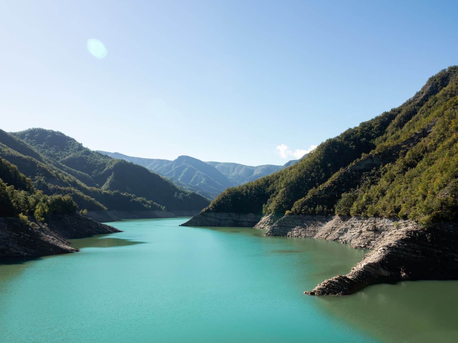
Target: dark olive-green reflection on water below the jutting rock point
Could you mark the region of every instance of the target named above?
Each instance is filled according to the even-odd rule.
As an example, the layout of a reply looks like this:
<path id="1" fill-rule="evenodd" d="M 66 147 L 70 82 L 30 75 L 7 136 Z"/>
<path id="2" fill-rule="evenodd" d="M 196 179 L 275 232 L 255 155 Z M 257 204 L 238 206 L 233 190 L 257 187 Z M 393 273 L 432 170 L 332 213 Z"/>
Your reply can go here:
<path id="1" fill-rule="evenodd" d="M 457 342 L 458 281 L 377 284 L 354 295 L 317 297 L 329 311 L 388 342 Z"/>

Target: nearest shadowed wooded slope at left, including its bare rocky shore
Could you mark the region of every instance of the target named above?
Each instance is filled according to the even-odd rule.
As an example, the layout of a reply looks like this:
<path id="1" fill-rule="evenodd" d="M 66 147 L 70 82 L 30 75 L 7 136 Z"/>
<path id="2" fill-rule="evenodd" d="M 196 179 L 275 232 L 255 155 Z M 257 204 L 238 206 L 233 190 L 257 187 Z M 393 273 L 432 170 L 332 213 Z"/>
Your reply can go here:
<path id="1" fill-rule="evenodd" d="M 67 239 L 120 232 L 77 209 L 70 195 L 44 194 L 0 157 L 0 257 L 77 252 Z"/>

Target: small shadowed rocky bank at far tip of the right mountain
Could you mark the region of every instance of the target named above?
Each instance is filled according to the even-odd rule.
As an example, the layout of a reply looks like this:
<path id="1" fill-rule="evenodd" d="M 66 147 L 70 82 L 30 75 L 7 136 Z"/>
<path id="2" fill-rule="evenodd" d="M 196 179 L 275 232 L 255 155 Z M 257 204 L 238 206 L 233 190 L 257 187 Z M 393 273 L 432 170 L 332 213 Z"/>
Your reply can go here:
<path id="1" fill-rule="evenodd" d="M 254 213 L 201 212 L 180 226 L 253 227 L 260 219 L 260 216 Z"/>

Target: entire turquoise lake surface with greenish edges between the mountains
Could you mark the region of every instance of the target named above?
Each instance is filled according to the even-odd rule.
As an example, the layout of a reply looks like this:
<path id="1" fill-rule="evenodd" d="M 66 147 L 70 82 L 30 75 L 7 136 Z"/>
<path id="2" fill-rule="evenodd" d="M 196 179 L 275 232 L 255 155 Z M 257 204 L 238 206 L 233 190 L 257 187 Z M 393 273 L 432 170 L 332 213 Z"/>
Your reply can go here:
<path id="1" fill-rule="evenodd" d="M 304 295 L 368 251 L 185 218 L 0 260 L 0 342 L 456 342 L 457 281 Z"/>

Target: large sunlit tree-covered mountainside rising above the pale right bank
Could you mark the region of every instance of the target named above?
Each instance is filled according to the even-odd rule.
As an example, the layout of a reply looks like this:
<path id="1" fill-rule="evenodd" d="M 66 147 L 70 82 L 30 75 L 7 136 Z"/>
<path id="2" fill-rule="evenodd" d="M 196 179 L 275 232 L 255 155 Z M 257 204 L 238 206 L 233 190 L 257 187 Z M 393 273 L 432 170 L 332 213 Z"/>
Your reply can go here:
<path id="1" fill-rule="evenodd" d="M 203 213 L 349 214 L 457 221 L 458 67 L 303 160 L 228 188 Z"/>

